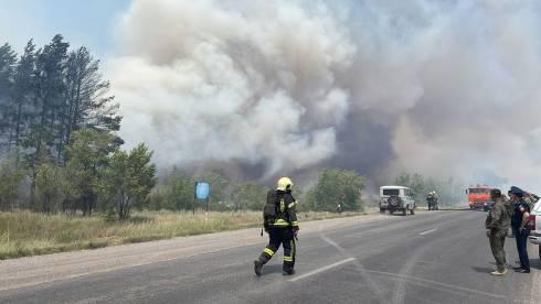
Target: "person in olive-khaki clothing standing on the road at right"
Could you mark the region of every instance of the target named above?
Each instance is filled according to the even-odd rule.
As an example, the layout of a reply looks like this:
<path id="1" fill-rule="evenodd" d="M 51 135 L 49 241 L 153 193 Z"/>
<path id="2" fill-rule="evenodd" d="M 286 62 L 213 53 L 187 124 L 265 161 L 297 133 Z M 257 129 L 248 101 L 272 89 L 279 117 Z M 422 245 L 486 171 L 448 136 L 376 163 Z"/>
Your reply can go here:
<path id="1" fill-rule="evenodd" d="M 506 251 L 503 250 L 503 247 L 507 229 L 511 227 L 512 207 L 510 202 L 503 199 L 500 189 L 491 189 L 490 198 L 495 204 L 485 221 L 490 249 L 496 260 L 496 270 L 490 272 L 490 274 L 503 275 L 507 273 Z"/>

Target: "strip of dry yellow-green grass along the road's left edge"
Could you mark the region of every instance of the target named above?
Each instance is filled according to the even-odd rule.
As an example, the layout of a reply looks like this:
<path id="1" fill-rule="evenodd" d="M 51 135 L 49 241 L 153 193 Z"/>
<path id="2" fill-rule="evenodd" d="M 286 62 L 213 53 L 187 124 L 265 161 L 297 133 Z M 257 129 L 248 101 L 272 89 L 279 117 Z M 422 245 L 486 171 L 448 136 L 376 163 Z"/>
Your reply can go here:
<path id="1" fill-rule="evenodd" d="M 300 213 L 299 220 L 321 220 L 368 213 Z M 30 211 L 0 213 L 0 260 L 261 226 L 261 213 L 135 213 L 128 221 L 106 221 Z"/>

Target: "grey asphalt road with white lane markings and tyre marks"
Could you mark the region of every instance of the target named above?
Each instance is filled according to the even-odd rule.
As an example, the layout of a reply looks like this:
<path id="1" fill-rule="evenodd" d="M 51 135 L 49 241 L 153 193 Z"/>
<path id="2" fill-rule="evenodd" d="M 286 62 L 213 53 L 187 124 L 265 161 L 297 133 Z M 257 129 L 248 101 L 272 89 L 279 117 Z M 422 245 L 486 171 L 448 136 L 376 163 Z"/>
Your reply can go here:
<path id="1" fill-rule="evenodd" d="M 541 303 L 535 248 L 531 274 L 488 274 L 485 217 L 432 211 L 321 225 L 300 235 L 294 276 L 282 275 L 282 250 L 255 276 L 257 243 L 4 290 L 0 303 Z M 513 239 L 506 251 L 515 263 Z"/>

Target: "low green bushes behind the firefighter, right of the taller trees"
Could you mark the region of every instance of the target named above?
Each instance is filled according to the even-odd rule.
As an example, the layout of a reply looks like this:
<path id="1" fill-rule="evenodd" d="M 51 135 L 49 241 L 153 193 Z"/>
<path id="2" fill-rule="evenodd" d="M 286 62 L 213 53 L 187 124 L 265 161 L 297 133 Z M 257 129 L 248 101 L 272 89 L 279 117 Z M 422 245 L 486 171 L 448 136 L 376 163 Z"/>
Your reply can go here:
<path id="1" fill-rule="evenodd" d="M 204 202 L 194 199 L 194 185 L 198 181 L 211 185 L 209 206 L 211 210 L 261 210 L 270 187 L 256 182 L 233 181 L 225 172 L 212 170 L 189 175 L 173 169 L 156 186 L 149 198 L 149 209 L 191 210 L 203 208 Z M 273 185 L 274 186 L 274 185 Z M 362 210 L 361 191 L 364 177 L 353 171 L 325 169 L 316 184 L 304 191 L 294 187 L 294 196 L 301 210 L 335 211 L 338 204 L 342 210 Z"/>

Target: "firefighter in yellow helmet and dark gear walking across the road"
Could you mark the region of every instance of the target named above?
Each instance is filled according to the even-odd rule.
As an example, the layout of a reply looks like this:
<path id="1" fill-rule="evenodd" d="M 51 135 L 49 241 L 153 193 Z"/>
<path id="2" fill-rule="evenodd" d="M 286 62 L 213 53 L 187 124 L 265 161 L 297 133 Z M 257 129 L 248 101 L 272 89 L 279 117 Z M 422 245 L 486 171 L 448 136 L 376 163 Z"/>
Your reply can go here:
<path id="1" fill-rule="evenodd" d="M 255 274 L 261 275 L 263 265 L 266 264 L 284 246 L 283 274 L 295 273 L 295 238 L 299 230 L 297 221 L 297 202 L 291 195 L 293 182 L 289 177 L 278 180 L 276 191 L 269 191 L 267 203 L 263 209 L 264 228 L 268 234 L 268 245 L 259 258 L 254 261 Z"/>

